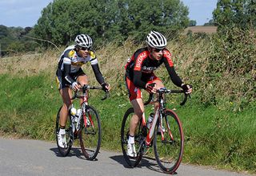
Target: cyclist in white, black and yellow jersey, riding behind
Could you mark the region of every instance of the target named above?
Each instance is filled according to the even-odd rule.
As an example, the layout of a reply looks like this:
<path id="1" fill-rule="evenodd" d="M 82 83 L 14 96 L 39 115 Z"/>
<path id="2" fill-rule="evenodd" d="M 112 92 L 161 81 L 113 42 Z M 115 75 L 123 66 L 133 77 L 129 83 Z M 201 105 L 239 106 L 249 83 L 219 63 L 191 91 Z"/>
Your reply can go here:
<path id="1" fill-rule="evenodd" d="M 84 84 L 88 84 L 88 76 L 82 71 L 81 66 L 90 62 L 98 83 L 105 91 L 110 91 L 110 84 L 107 84 L 98 67 L 98 60 L 94 51 L 90 48 L 93 45 L 91 37 L 87 34 L 80 34 L 75 38 L 75 45 L 70 45 L 62 53 L 58 61 L 56 80 L 59 92 L 62 96 L 63 105 L 60 111 L 60 131 L 58 132 L 58 145 L 66 147 L 65 126 L 70 105 L 72 90 L 78 91 Z M 71 88 L 70 88 L 71 87 Z"/>

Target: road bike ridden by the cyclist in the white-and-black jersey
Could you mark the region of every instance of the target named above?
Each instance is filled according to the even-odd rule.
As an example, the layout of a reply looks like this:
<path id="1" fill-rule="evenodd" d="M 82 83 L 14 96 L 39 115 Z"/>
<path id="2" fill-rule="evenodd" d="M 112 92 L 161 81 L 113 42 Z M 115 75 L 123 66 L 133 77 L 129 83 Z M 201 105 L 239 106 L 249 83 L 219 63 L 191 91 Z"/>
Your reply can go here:
<path id="1" fill-rule="evenodd" d="M 62 148 L 58 146 L 58 131 L 59 131 L 59 113 L 61 108 L 58 110 L 56 118 L 56 141 L 58 146 L 58 151 L 62 156 L 66 156 L 70 153 L 70 149 L 74 143 L 74 139 L 79 139 L 80 147 L 82 149 L 82 154 L 89 159 L 94 160 L 97 157 L 99 148 L 101 146 L 102 140 L 102 128 L 101 121 L 98 112 L 94 107 L 88 104 L 88 90 L 98 89 L 103 90 L 102 87 L 84 85 L 80 91 L 74 92 L 74 96 L 71 100 L 82 99 L 82 104 L 80 106 L 81 113 L 77 116 L 77 122 L 73 120 L 70 111 L 68 113 L 68 118 L 66 122 L 66 147 Z M 106 100 L 108 92 L 105 92 L 105 96 L 102 100 Z M 73 105 L 73 104 L 72 104 Z"/>

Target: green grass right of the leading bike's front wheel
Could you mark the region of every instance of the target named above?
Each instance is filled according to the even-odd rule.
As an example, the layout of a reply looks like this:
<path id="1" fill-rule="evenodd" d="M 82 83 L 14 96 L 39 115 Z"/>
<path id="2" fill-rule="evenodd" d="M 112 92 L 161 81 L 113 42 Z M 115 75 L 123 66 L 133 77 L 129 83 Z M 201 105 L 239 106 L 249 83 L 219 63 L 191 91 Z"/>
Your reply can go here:
<path id="1" fill-rule="evenodd" d="M 189 111 L 189 114 L 186 114 Z M 240 113 L 214 107 L 178 111 L 186 135 L 185 162 L 230 170 L 256 171 L 255 111 Z"/>

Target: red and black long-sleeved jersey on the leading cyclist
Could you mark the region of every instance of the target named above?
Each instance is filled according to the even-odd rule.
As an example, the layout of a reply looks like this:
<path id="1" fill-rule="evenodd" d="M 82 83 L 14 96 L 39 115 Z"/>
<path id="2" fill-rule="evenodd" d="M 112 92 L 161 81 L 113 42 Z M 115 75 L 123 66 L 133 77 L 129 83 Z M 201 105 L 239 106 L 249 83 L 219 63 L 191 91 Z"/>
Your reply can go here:
<path id="1" fill-rule="evenodd" d="M 174 63 L 171 60 L 171 53 L 168 49 L 162 50 L 162 58 L 159 61 L 150 57 L 148 48 L 138 49 L 130 60 L 127 61 L 125 66 L 126 76 L 134 82 L 135 86 L 146 88 L 147 80 L 150 79 L 154 70 L 162 65 L 162 63 L 166 65 L 171 80 L 180 87 L 182 80 L 174 70 Z"/>

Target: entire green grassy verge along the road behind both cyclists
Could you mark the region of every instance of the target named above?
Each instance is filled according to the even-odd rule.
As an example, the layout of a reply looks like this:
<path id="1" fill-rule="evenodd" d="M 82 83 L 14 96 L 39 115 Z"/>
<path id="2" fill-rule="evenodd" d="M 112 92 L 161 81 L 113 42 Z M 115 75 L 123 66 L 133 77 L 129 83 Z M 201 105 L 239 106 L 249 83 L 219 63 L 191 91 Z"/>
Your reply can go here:
<path id="1" fill-rule="evenodd" d="M 0 131 L 54 140 L 55 115 L 62 102 L 53 76 L 44 72 L 22 78 L 2 74 L 0 81 Z M 91 92 L 90 104 L 102 119 L 102 148 L 121 151 L 122 115 L 130 103 L 124 94 L 115 92 L 118 91 L 114 89 L 104 101 L 100 100 L 103 94 Z M 204 108 L 195 96 L 180 107 L 178 100 L 173 97 L 168 106 L 175 108 L 182 120 L 186 135 L 183 162 L 256 173 L 255 108 L 240 112 Z M 147 114 L 149 111 L 150 107 Z"/>

